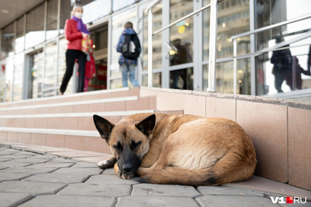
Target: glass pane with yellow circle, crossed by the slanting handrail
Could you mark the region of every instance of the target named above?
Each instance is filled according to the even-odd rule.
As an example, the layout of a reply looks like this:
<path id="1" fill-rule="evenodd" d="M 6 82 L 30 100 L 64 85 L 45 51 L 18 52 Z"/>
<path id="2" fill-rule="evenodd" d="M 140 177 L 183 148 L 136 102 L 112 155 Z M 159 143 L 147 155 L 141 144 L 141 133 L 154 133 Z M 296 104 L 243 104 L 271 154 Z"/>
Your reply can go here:
<path id="1" fill-rule="evenodd" d="M 193 11 L 192 0 L 170 1 L 170 23 Z M 193 56 L 193 17 L 170 27 L 170 65 L 192 62 Z M 166 48 L 165 48 L 166 49 Z"/>

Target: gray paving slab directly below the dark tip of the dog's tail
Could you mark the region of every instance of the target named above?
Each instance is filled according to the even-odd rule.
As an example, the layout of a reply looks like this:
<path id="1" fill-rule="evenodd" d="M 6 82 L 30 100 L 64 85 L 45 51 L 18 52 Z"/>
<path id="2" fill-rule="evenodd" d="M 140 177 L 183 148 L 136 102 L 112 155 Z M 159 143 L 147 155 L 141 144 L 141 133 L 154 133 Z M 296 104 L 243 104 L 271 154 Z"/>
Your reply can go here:
<path id="1" fill-rule="evenodd" d="M 133 185 L 131 195 L 152 195 L 152 196 L 176 196 L 195 198 L 201 196 L 193 186 L 181 185 L 158 185 L 142 183 Z"/>

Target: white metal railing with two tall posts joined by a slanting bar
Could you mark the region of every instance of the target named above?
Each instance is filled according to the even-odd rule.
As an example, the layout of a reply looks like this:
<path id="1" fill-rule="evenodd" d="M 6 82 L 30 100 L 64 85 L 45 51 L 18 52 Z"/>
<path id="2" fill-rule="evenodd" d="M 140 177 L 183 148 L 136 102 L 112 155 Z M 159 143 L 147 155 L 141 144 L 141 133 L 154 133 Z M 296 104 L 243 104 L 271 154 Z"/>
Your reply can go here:
<path id="1" fill-rule="evenodd" d="M 209 54 L 209 66 L 208 66 L 208 88 L 207 91 L 216 92 L 216 81 L 215 81 L 215 67 L 216 67 L 216 38 L 217 38 L 217 6 L 218 3 L 224 0 L 211 0 L 211 3 L 196 10 L 192 13 L 180 18 L 177 21 L 157 30 L 152 33 L 152 8 L 155 7 L 161 0 L 153 1 L 150 6 L 146 8 L 146 13 L 148 13 L 148 87 L 152 87 L 152 36 L 158 34 L 159 32 L 168 29 L 169 27 L 175 25 L 176 23 L 183 21 L 207 8 L 211 8 L 211 18 L 210 18 L 210 54 Z"/>

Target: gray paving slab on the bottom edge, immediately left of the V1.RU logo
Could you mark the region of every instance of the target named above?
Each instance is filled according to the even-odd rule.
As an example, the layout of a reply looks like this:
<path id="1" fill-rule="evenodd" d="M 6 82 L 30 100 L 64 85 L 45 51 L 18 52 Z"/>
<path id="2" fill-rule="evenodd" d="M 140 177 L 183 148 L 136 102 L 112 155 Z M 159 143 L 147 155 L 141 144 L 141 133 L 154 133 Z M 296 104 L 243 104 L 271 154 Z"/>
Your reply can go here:
<path id="1" fill-rule="evenodd" d="M 195 200 L 202 207 L 276 207 L 271 199 L 255 196 L 204 195 Z"/>

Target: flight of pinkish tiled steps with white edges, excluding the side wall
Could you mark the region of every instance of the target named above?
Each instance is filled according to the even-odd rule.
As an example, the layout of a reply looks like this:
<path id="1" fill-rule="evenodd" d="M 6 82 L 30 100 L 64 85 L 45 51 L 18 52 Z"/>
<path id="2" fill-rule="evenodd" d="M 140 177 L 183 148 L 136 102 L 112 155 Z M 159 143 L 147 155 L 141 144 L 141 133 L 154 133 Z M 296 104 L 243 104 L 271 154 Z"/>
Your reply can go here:
<path id="1" fill-rule="evenodd" d="M 93 115 L 116 124 L 131 114 L 156 112 L 156 96 L 139 94 L 139 88 L 121 88 L 2 103 L 0 140 L 111 154 Z"/>

